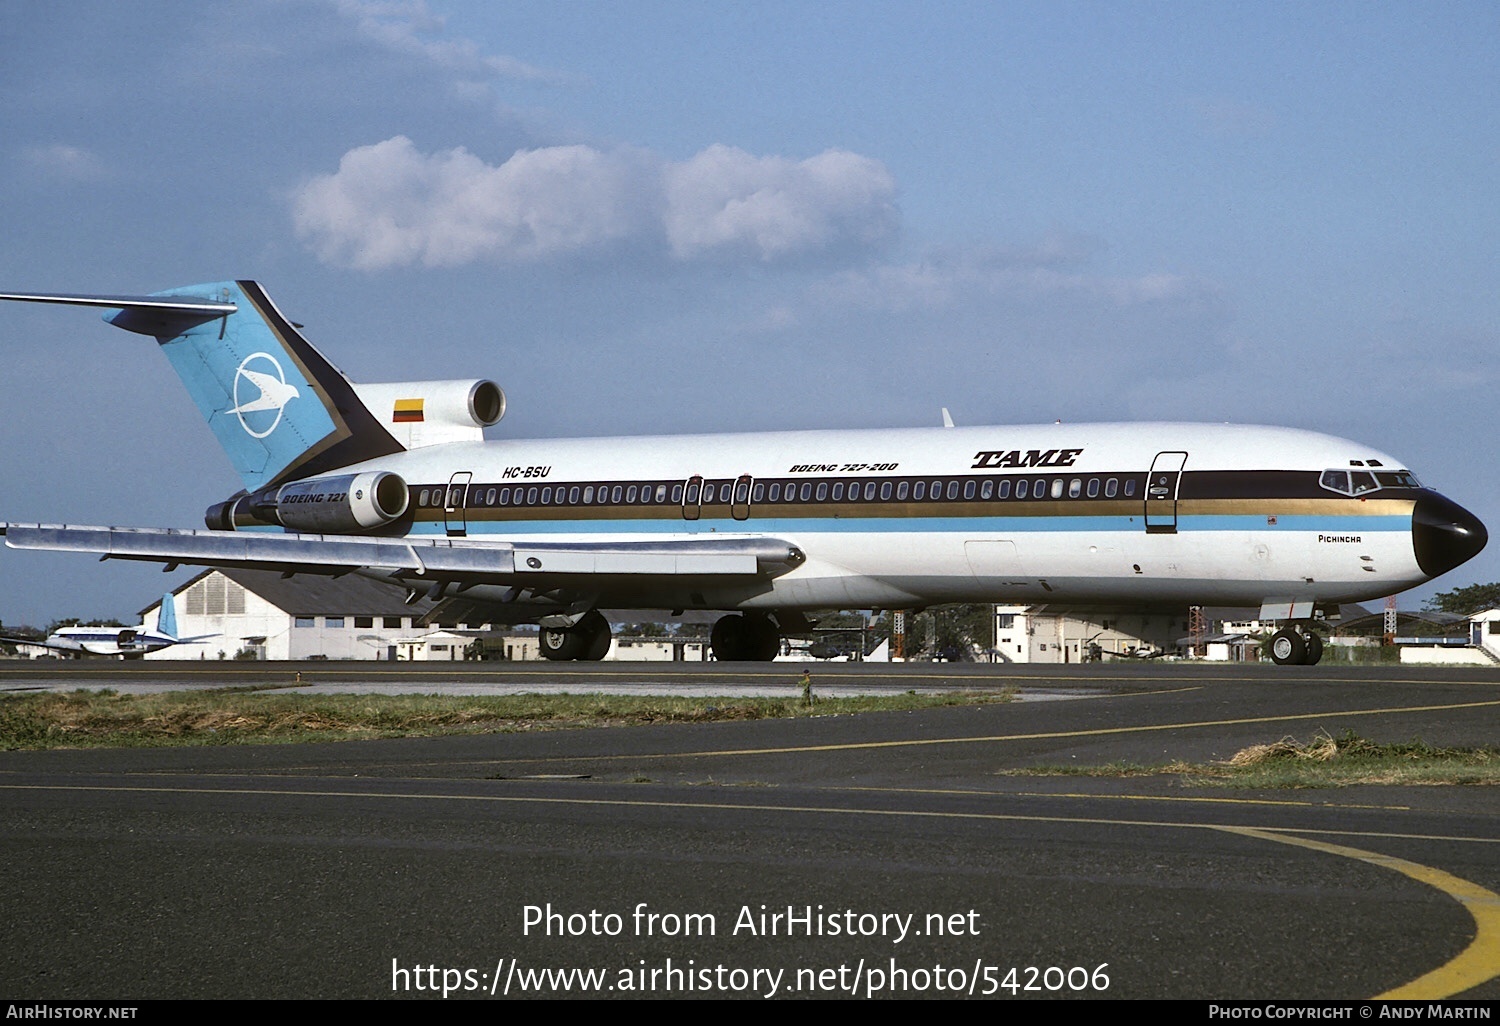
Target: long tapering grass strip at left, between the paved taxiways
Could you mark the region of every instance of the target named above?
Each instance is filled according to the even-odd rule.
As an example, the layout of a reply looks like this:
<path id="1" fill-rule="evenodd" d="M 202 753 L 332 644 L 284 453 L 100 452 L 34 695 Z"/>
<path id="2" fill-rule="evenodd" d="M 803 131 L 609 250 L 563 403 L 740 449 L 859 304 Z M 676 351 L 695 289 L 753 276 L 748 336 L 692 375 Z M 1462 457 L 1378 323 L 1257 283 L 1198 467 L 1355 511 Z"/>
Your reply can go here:
<path id="1" fill-rule="evenodd" d="M 0 748 L 100 748 L 278 744 L 508 734 L 648 723 L 712 723 L 922 710 L 1010 700 L 1010 692 L 818 699 L 654 698 L 626 694 L 306 694 L 216 688 L 117 694 L 24 693 L 0 698 Z"/>

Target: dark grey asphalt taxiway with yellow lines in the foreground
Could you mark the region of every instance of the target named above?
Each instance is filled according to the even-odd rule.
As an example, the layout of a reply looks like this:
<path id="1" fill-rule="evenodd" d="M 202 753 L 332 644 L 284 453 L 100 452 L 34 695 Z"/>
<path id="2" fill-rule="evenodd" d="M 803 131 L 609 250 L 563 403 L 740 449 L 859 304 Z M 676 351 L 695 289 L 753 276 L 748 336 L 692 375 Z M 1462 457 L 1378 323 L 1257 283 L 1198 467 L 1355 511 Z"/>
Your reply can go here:
<path id="1" fill-rule="evenodd" d="M 290 672 L 318 687 L 573 692 L 675 692 L 712 675 L 726 693 L 784 693 L 801 672 L 592 669 Z M 288 668 L 230 670 L 248 675 L 240 686 L 284 686 Z M 153 682 L 135 672 L 90 668 L 45 686 Z M 226 682 L 182 664 L 140 672 Z M 1317 730 L 1492 746 L 1500 674 L 866 664 L 813 675 L 819 688 L 1004 687 L 1070 700 L 0 753 L 0 993 L 1500 998 L 1492 789 L 1006 776 L 1226 759 Z M 0 690 L 42 680 L 0 669 Z"/>

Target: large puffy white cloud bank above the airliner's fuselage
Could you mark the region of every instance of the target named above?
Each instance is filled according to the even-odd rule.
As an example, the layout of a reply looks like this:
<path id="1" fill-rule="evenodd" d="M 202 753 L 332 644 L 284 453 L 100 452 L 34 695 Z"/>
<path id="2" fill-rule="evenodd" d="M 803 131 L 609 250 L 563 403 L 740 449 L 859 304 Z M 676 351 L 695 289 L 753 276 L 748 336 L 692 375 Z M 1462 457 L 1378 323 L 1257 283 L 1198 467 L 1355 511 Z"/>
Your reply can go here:
<path id="1" fill-rule="evenodd" d="M 807 160 L 714 146 L 681 164 L 644 150 L 522 150 L 490 165 L 394 136 L 344 154 L 294 196 L 297 234 L 328 264 L 380 270 L 530 262 L 646 244 L 678 260 L 777 260 L 882 242 L 894 182 L 842 150 Z"/>

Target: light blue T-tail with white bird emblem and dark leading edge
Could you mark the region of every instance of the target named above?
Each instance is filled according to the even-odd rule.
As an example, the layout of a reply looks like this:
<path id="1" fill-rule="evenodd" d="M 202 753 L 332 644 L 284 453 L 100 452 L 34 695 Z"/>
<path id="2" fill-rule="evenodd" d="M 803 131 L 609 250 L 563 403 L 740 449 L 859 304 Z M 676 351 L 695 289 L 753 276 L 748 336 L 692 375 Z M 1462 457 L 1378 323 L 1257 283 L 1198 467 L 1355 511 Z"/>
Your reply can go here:
<path id="1" fill-rule="evenodd" d="M 154 336 L 252 492 L 404 448 L 258 282 L 0 298 L 108 308 L 110 324 Z"/>

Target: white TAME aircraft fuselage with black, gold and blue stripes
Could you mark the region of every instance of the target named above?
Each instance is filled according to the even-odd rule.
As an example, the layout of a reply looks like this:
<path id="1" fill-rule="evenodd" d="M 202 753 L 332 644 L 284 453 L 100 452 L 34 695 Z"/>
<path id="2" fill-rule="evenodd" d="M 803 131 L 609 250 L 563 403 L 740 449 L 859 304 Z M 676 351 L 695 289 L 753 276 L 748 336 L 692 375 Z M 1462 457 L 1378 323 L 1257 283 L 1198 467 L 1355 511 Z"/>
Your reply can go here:
<path id="1" fill-rule="evenodd" d="M 1446 502 L 1368 446 L 1190 423 L 453 442 L 348 471 L 400 476 L 404 532 L 456 544 L 774 536 L 807 556 L 650 596 L 600 582 L 606 606 L 690 609 L 1358 602 L 1434 576 L 1413 514 Z"/>

